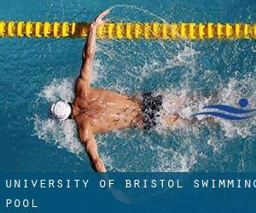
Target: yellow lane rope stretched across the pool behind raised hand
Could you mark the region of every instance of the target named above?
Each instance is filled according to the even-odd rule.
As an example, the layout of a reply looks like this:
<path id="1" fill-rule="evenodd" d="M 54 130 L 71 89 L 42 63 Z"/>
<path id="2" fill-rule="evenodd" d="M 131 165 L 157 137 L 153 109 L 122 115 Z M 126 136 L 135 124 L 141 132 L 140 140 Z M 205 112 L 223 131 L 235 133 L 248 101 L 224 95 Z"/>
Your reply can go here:
<path id="1" fill-rule="evenodd" d="M 0 37 L 87 37 L 90 23 L 0 21 Z M 97 37 L 109 39 L 255 39 L 256 23 L 115 22 L 99 26 Z"/>

